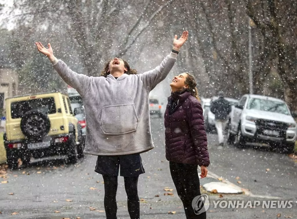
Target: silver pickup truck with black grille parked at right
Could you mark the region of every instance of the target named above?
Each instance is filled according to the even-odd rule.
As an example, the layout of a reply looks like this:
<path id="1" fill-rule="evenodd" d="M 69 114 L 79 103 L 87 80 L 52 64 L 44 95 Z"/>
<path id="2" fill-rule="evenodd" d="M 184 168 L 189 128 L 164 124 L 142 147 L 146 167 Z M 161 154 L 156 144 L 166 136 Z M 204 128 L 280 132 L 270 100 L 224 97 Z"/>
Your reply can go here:
<path id="1" fill-rule="evenodd" d="M 292 152 L 297 127 L 287 104 L 273 97 L 245 94 L 232 109 L 227 141 L 238 147 L 247 142 L 276 145 Z"/>

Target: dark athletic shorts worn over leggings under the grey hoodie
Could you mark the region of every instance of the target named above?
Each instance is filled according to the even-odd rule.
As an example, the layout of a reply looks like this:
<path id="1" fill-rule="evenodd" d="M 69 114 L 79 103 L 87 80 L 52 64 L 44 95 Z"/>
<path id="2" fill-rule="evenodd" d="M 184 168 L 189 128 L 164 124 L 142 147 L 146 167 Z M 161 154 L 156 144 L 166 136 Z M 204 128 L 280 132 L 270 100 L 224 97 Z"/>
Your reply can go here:
<path id="1" fill-rule="evenodd" d="M 135 177 L 145 172 L 139 153 L 115 156 L 99 155 L 95 172 L 102 175 L 118 176 L 119 168 L 122 177 Z"/>

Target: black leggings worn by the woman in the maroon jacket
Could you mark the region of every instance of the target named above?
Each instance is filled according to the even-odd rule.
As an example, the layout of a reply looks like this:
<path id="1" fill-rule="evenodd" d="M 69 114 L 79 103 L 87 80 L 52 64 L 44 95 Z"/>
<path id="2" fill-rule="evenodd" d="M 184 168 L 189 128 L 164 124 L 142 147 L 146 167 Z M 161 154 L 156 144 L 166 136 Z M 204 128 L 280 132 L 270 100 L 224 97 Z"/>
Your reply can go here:
<path id="1" fill-rule="evenodd" d="M 206 212 L 196 215 L 192 200 L 201 196 L 197 165 L 169 162 L 170 173 L 177 194 L 184 205 L 187 219 L 206 219 Z"/>

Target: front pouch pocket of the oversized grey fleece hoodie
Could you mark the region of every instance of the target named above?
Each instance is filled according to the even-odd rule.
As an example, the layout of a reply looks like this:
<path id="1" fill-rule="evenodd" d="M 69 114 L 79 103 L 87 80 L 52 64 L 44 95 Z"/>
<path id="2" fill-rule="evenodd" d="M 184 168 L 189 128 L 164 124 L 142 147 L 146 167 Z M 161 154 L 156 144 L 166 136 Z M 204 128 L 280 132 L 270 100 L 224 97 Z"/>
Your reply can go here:
<path id="1" fill-rule="evenodd" d="M 122 135 L 134 132 L 137 129 L 138 122 L 133 103 L 110 105 L 102 108 L 100 127 L 106 135 Z"/>

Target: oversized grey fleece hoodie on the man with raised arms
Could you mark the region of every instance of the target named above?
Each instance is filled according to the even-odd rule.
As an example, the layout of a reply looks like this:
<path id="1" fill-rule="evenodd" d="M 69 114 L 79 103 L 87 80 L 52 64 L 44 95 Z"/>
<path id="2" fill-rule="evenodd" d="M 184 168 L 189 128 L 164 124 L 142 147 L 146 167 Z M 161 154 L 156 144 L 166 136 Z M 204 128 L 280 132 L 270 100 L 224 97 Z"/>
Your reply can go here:
<path id="1" fill-rule="evenodd" d="M 149 118 L 149 92 L 166 78 L 176 62 L 170 53 L 153 70 L 137 75 L 88 77 L 61 61 L 53 63 L 61 78 L 83 98 L 86 146 L 92 155 L 126 155 L 154 148 Z"/>

